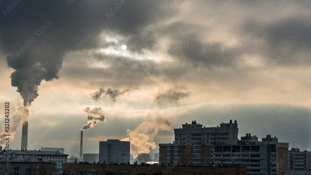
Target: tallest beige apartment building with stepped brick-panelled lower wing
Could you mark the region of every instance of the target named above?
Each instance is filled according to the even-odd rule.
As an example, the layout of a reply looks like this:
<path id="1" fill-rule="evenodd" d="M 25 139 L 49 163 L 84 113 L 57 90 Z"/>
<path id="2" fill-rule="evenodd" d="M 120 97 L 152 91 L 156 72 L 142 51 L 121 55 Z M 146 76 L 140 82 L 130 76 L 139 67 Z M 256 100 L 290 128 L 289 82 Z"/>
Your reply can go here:
<path id="1" fill-rule="evenodd" d="M 209 166 L 212 145 L 225 144 L 225 140 L 238 139 L 238 123 L 220 123 L 220 127 L 203 127 L 192 121 L 174 129 L 175 140 L 169 144 L 159 144 L 160 165 Z"/>

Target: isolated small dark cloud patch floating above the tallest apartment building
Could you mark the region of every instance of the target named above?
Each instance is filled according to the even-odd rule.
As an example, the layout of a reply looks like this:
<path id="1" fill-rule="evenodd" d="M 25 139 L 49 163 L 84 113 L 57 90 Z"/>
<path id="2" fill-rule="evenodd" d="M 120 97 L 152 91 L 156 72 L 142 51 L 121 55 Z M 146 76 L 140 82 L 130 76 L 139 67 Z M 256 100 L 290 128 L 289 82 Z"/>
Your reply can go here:
<path id="1" fill-rule="evenodd" d="M 185 89 L 184 86 L 175 86 L 169 90 L 158 91 L 155 94 L 154 101 L 159 107 L 166 104 L 178 104 L 180 99 L 190 95 L 190 92 L 182 92 L 183 89 Z"/>

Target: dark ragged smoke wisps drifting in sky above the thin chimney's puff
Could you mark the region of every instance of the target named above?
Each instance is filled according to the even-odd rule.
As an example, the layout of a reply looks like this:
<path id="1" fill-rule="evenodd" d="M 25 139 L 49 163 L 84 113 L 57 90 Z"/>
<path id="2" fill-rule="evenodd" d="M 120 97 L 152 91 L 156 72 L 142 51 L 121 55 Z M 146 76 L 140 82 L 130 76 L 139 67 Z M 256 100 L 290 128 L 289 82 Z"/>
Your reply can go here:
<path id="1" fill-rule="evenodd" d="M 130 87 L 123 91 L 119 90 L 117 87 L 114 88 L 108 88 L 107 90 L 104 90 L 103 88 L 100 88 L 98 91 L 94 92 L 92 95 L 92 99 L 96 102 L 100 100 L 101 98 L 108 98 L 112 100 L 113 103 L 117 101 L 117 98 L 126 92 L 132 92 L 133 90 L 138 90 L 138 87 Z"/>

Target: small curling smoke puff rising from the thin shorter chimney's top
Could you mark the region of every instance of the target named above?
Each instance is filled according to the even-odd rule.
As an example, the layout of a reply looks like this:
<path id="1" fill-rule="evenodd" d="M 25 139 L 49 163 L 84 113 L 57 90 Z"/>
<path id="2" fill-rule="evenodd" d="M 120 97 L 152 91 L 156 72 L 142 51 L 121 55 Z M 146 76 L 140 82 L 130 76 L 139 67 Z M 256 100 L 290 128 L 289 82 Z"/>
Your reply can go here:
<path id="1" fill-rule="evenodd" d="M 101 108 L 94 108 L 90 110 L 90 107 L 84 109 L 84 112 L 87 113 L 87 123 L 83 125 L 81 130 L 90 129 L 95 127 L 98 122 L 106 122 L 106 115 L 102 113 Z"/>

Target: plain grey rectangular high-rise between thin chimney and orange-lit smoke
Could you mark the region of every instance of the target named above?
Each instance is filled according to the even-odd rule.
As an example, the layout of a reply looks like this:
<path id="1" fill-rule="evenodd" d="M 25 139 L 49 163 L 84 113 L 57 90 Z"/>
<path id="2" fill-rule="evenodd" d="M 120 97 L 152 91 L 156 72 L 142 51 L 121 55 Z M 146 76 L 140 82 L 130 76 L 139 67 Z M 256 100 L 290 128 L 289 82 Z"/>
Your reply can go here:
<path id="1" fill-rule="evenodd" d="M 130 162 L 130 142 L 109 139 L 99 142 L 100 163 L 126 163 Z"/>

